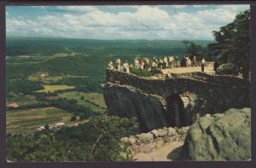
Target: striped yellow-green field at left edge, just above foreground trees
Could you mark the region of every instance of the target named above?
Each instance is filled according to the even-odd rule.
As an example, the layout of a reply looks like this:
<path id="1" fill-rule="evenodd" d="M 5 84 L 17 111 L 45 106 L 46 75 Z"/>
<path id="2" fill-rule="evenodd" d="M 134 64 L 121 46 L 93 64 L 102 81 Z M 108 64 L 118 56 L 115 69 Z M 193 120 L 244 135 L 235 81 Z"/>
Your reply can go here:
<path id="1" fill-rule="evenodd" d="M 7 130 L 9 132 L 35 130 L 43 125 L 51 125 L 63 122 L 73 124 L 70 121 L 72 114 L 56 107 L 31 108 L 21 110 L 8 110 Z"/>

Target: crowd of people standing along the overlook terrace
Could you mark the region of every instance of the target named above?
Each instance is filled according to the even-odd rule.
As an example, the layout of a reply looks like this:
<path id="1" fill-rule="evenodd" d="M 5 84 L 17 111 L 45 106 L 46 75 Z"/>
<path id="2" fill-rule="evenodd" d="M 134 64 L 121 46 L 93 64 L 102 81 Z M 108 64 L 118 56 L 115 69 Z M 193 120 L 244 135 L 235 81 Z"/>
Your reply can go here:
<path id="1" fill-rule="evenodd" d="M 130 68 L 136 69 L 169 69 L 173 67 L 196 67 L 199 66 L 197 64 L 197 57 L 194 55 L 191 58 L 189 55 L 184 55 L 182 61 L 178 61 L 178 57 L 174 55 L 164 56 L 163 58 L 153 57 L 150 60 L 148 57 L 143 57 L 139 59 L 136 57 L 134 59 L 133 64 L 129 64 L 128 61 L 124 61 L 123 66 L 121 66 L 120 58 L 117 58 L 115 61 L 115 65 L 113 65 L 113 61 L 108 62 L 108 68 L 117 69 L 118 71 L 130 72 Z M 202 57 L 201 60 L 201 71 L 204 72 L 205 59 Z"/>

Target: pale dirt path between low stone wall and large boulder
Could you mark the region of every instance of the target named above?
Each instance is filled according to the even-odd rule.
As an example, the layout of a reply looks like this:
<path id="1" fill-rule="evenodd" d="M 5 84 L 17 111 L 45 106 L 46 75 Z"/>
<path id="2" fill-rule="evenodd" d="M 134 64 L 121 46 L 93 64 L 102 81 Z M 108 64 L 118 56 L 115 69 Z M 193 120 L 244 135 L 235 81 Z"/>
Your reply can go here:
<path id="1" fill-rule="evenodd" d="M 136 161 L 172 161 L 181 152 L 183 142 L 171 142 L 149 154 L 136 154 Z"/>

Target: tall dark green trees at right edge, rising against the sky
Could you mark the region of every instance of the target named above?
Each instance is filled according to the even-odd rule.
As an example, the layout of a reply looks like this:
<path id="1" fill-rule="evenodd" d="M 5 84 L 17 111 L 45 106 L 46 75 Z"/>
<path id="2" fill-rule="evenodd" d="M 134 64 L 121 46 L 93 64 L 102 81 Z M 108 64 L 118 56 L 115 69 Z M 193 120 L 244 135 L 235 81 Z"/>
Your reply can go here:
<path id="1" fill-rule="evenodd" d="M 209 46 L 212 54 L 221 55 L 222 63 L 242 67 L 244 78 L 250 71 L 250 10 L 236 15 L 236 19 L 213 32 L 217 43 Z"/>

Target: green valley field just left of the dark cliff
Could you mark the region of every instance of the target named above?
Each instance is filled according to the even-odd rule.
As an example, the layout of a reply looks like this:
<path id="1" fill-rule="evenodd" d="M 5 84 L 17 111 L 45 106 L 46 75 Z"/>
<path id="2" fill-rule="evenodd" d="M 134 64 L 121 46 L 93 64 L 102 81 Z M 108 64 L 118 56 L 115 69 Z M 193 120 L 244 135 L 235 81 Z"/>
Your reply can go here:
<path id="1" fill-rule="evenodd" d="M 84 93 L 78 91 L 69 91 L 60 95 L 62 98 L 74 99 L 79 105 L 90 107 L 94 111 L 104 112 L 107 108 L 102 94 Z M 84 97 L 84 99 L 82 99 Z"/>

